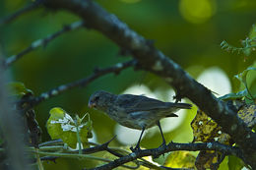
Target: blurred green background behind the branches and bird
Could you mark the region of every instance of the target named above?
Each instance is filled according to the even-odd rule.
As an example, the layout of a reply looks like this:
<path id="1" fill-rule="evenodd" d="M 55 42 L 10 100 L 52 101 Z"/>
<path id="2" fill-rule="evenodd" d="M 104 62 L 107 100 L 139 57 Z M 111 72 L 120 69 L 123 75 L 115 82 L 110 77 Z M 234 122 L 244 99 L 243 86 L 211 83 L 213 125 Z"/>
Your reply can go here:
<path id="1" fill-rule="evenodd" d="M 108 12 L 115 14 L 147 39 L 154 39 L 156 46 L 167 56 L 187 70 L 195 79 L 206 69 L 221 69 L 230 81 L 232 91 L 239 90 L 233 75 L 242 72 L 255 60 L 251 56 L 231 54 L 221 49 L 223 40 L 240 46 L 256 19 L 255 0 L 97 0 Z M 3 18 L 26 6 L 31 1 L 1 0 L 0 16 Z M 14 22 L 0 28 L 2 53 L 11 56 L 28 47 L 32 41 L 69 25 L 79 18 L 66 11 L 50 11 L 39 8 Z M 118 55 L 119 48 L 112 41 L 93 29 L 80 28 L 54 39 L 46 47 L 36 49 L 15 63 L 9 72 L 13 80 L 23 82 L 35 95 L 57 85 L 85 78 L 96 67 L 111 66 L 129 60 Z M 87 107 L 89 96 L 98 89 L 121 93 L 131 85 L 146 85 L 152 91 L 168 90 L 160 78 L 142 71 L 128 69 L 118 76 L 107 75 L 92 84 L 75 88 L 48 99 L 35 107 L 36 118 L 42 128 L 42 141 L 49 141 L 45 129 L 48 112 L 60 106 L 69 113 L 91 114 L 96 133 L 96 142 L 106 142 L 114 136 L 115 123 L 95 110 Z M 250 83 L 253 93 L 256 84 Z M 143 92 L 142 92 L 143 93 Z M 164 92 L 162 92 L 164 93 Z M 138 93 L 141 94 L 141 93 Z M 166 96 L 163 96 L 166 98 Z M 171 99 L 167 96 L 166 100 Z M 166 141 L 191 142 L 190 122 L 195 110 L 187 114 L 182 125 L 164 134 Z M 178 138 L 179 136 L 188 138 Z M 175 142 L 175 140 L 174 140 Z M 146 137 L 142 145 L 156 147 L 160 134 Z M 111 145 L 121 145 L 111 142 Z M 58 163 L 61 162 L 61 163 Z M 79 163 L 78 163 L 79 162 Z M 81 169 L 87 164 L 83 160 L 58 159 L 57 164 L 45 164 L 46 169 Z"/>

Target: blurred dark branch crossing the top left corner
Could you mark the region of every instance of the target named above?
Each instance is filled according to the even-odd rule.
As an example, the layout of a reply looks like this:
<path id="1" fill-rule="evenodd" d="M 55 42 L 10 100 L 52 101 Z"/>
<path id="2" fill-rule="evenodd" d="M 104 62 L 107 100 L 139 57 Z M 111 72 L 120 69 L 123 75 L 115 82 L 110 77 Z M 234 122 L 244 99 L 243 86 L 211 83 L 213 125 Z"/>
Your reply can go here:
<path id="1" fill-rule="evenodd" d="M 17 19 L 18 17 L 22 16 L 25 13 L 28 13 L 32 10 L 34 10 L 35 8 L 39 7 L 39 5 L 41 5 L 43 2 L 43 0 L 36 0 L 35 2 L 25 6 L 24 8 L 16 11 L 14 14 L 7 16 L 3 19 L 0 19 L 0 26 L 8 24 L 10 22 L 12 22 L 13 20 Z"/>

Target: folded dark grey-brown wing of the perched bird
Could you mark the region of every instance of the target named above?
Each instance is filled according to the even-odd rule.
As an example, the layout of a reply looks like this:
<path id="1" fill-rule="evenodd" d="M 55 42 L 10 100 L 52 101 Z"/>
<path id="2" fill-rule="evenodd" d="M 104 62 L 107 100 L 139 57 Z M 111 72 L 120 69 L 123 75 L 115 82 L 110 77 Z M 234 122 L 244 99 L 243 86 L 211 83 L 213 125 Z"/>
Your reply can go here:
<path id="1" fill-rule="evenodd" d="M 116 104 L 124 108 L 127 113 L 168 109 L 169 103 L 149 98 L 143 95 L 121 94 L 116 98 Z"/>

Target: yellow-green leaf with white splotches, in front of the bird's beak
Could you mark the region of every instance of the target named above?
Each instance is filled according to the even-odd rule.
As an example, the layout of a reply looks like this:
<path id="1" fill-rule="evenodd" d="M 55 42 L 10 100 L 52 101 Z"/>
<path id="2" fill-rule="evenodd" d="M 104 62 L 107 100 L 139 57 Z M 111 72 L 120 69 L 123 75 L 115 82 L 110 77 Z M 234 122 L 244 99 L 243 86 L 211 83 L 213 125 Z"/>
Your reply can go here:
<path id="1" fill-rule="evenodd" d="M 52 108 L 49 113 L 50 117 L 46 127 L 52 140 L 61 139 L 68 146 L 76 148 L 78 143 L 78 129 L 83 147 L 88 147 L 88 139 L 92 136 L 92 121 L 89 118 L 86 123 L 83 123 L 83 120 L 89 114 L 86 114 L 82 119 L 78 118 L 76 126 L 73 118 L 60 107 Z"/>

